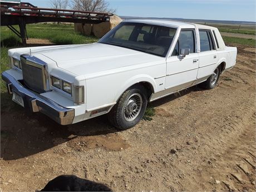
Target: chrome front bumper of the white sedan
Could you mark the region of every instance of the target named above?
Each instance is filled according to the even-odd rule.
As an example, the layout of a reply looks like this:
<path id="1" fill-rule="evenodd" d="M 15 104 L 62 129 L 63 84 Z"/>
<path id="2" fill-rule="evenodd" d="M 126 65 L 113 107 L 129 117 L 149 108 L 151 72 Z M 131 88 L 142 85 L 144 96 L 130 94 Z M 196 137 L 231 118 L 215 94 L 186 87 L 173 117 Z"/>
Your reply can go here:
<path id="1" fill-rule="evenodd" d="M 36 92 L 28 90 L 7 72 L 2 73 L 2 79 L 7 83 L 7 89 L 10 94 L 16 92 L 22 97 L 25 108 L 33 112 L 41 112 L 61 125 L 72 124 L 75 117 L 74 109 L 62 107 L 56 104 L 56 102 L 53 102 Z"/>

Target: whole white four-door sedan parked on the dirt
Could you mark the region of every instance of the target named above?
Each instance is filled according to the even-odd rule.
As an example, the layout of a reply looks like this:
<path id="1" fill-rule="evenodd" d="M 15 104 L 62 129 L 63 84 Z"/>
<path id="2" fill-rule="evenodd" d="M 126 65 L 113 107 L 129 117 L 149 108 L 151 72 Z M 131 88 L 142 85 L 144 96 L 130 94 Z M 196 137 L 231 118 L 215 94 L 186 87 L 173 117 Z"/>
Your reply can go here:
<path id="1" fill-rule="evenodd" d="M 103 114 L 118 129 L 135 126 L 147 103 L 199 84 L 214 88 L 235 65 L 217 28 L 127 20 L 97 43 L 8 51 L 2 73 L 13 101 L 62 125 Z"/>

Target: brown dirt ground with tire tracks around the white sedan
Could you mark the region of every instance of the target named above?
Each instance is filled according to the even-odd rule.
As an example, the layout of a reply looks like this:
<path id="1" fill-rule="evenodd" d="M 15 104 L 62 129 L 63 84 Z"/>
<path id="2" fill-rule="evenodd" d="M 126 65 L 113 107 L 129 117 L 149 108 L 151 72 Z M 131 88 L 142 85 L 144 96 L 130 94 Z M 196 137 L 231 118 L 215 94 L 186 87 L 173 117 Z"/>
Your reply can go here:
<path id="1" fill-rule="evenodd" d="M 255 49 L 237 46 L 214 90 L 152 102 L 152 121 L 127 131 L 106 116 L 60 126 L 4 105 L 1 191 L 35 191 L 62 174 L 114 191 L 255 191 Z"/>

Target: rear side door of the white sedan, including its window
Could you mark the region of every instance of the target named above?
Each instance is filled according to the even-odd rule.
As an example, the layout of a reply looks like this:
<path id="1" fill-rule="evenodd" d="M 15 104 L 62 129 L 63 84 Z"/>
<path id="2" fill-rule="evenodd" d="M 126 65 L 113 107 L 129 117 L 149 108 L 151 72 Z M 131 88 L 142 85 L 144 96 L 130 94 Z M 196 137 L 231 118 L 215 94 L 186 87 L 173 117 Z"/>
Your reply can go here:
<path id="1" fill-rule="evenodd" d="M 208 29 L 199 29 L 200 52 L 198 79 L 209 77 L 217 67 L 218 52 L 213 39 L 213 33 Z"/>

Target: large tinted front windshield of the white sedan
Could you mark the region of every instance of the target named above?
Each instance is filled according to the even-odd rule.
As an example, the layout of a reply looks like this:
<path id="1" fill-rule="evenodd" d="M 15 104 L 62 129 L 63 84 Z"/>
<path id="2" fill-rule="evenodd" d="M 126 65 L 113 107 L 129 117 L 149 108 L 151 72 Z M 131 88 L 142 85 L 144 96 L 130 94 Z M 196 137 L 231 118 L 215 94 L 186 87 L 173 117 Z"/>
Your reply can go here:
<path id="1" fill-rule="evenodd" d="M 165 57 L 176 28 L 144 23 L 120 23 L 98 43 L 130 48 Z"/>

